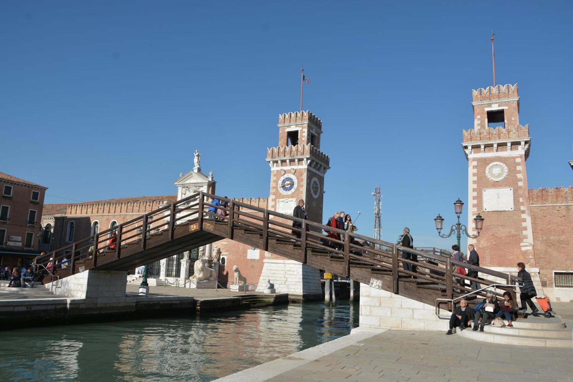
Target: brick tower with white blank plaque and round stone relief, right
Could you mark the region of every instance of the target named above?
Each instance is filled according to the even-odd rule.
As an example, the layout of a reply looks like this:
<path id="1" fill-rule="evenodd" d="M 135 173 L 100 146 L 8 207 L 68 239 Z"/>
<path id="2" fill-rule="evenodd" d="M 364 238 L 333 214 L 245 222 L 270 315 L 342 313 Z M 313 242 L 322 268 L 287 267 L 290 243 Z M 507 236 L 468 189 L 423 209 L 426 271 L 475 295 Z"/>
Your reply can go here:
<path id="1" fill-rule="evenodd" d="M 474 128 L 463 132 L 468 159 L 468 233 L 484 217 L 476 245 L 481 266 L 515 271 L 517 262 L 536 267 L 525 161 L 529 126 L 519 124 L 517 84 L 473 91 Z M 505 269 L 507 268 L 507 269 Z M 537 270 L 539 272 L 539 270 Z"/>

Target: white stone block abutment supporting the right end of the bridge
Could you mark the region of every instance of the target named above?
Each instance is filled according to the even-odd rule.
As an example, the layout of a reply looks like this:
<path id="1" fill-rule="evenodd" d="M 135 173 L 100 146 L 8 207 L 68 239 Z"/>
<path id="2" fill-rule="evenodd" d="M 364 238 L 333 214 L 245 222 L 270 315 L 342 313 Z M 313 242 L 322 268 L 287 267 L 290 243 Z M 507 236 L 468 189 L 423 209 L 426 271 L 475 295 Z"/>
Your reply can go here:
<path id="1" fill-rule="evenodd" d="M 360 326 L 375 329 L 448 330 L 435 306 L 360 283 Z"/>

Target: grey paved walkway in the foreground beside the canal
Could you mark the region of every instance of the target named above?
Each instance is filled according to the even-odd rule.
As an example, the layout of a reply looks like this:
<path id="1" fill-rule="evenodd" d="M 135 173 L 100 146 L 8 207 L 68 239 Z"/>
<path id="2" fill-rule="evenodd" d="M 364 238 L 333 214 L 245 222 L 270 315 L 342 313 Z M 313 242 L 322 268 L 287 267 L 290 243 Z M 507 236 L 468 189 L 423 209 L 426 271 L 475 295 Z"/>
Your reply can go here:
<path id="1" fill-rule="evenodd" d="M 573 350 L 487 344 L 442 332 L 387 330 L 268 379 L 295 380 L 573 381 Z"/>

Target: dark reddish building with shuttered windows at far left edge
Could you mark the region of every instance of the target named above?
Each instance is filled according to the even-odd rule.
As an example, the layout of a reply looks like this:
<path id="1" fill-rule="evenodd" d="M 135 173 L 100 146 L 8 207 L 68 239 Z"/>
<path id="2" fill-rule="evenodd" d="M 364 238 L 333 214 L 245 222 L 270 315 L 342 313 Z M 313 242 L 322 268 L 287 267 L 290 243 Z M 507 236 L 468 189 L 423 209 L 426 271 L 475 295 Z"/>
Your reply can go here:
<path id="1" fill-rule="evenodd" d="M 40 254 L 46 189 L 0 173 L 0 266 L 24 266 Z"/>

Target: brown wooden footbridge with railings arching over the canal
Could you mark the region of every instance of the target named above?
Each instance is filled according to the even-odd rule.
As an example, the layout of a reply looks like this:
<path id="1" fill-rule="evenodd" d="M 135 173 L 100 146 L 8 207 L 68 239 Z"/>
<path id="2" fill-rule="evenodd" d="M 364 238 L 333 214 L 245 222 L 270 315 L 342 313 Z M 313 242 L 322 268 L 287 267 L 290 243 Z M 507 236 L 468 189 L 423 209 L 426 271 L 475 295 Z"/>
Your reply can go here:
<path id="1" fill-rule="evenodd" d="M 214 199 L 227 202 L 227 206 L 211 204 Z M 222 209 L 227 215 L 209 212 L 209 208 Z M 293 228 L 293 221 L 300 223 L 301 228 Z M 340 240 L 325 236 L 325 231 L 339 233 Z M 53 267 L 60 278 L 91 269 L 130 270 L 224 238 L 361 283 L 380 280 L 382 289 L 430 305 L 437 298 L 452 299 L 456 295 L 454 288 L 462 294 L 471 292 L 467 287 L 454 286 L 454 277 L 482 286 L 494 283 L 458 275 L 453 272 L 457 266 L 502 279 L 506 284 L 519 280 L 456 262 L 439 252 L 405 248 L 203 192 L 97 232 L 37 258 L 36 263 L 49 270 Z M 403 251 L 417 255 L 419 261 L 402 259 Z M 68 266 L 61 268 L 61 263 Z M 417 266 L 417 272 L 406 270 L 403 267 L 406 263 Z M 514 293 L 513 289 L 510 291 Z M 513 300 L 516 301 L 515 295 Z"/>

